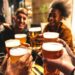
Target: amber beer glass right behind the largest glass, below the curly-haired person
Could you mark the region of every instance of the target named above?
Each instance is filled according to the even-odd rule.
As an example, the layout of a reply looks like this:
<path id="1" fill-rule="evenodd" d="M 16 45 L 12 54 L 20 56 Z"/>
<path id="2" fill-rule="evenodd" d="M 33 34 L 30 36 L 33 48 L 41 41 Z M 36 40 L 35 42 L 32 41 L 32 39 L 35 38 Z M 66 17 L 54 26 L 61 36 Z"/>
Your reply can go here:
<path id="1" fill-rule="evenodd" d="M 44 42 L 57 42 L 59 38 L 59 33 L 57 32 L 44 32 L 43 33 Z"/>

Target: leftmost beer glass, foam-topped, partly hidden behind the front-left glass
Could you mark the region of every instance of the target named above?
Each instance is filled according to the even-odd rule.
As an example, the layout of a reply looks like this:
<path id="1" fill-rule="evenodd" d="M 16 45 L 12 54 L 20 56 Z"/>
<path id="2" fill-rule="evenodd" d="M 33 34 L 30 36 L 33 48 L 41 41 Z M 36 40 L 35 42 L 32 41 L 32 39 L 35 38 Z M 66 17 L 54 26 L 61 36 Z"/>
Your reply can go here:
<path id="1" fill-rule="evenodd" d="M 8 54 L 9 54 L 9 50 L 11 48 L 15 48 L 15 47 L 18 47 L 20 45 L 21 45 L 20 40 L 17 40 L 17 39 L 9 39 L 9 40 L 5 41 L 6 51 Z"/>

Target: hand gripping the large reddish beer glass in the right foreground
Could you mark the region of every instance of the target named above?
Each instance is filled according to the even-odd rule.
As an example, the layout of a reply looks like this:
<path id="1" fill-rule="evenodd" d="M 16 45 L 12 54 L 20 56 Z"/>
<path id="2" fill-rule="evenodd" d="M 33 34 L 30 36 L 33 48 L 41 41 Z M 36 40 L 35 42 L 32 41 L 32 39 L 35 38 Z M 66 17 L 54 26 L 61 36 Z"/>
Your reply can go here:
<path id="1" fill-rule="evenodd" d="M 48 69 L 50 70 L 59 69 L 66 75 L 71 75 L 73 69 L 75 68 L 73 65 L 70 65 L 68 61 L 64 61 L 64 60 L 61 61 L 61 59 L 44 58 L 44 62 L 48 63 Z"/>

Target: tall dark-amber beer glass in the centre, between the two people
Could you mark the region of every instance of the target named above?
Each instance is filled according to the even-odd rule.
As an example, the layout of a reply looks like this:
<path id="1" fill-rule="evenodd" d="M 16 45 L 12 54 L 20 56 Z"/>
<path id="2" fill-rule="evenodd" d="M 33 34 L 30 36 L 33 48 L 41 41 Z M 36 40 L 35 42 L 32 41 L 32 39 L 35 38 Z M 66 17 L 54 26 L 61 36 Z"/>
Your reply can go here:
<path id="1" fill-rule="evenodd" d="M 39 38 L 39 34 L 41 34 L 41 27 L 32 27 L 29 28 L 29 36 L 30 36 L 30 43 L 31 47 L 34 50 L 38 50 L 41 47 L 41 41 Z"/>

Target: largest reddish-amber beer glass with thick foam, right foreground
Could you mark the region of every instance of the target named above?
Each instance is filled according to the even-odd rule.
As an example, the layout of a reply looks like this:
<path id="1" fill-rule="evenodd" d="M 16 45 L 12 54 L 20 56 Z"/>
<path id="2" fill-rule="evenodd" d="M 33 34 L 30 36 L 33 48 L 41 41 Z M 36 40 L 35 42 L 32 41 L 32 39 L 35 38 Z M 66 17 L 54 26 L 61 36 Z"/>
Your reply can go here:
<path id="1" fill-rule="evenodd" d="M 44 58 L 58 59 L 63 54 L 63 45 L 55 42 L 47 42 L 42 44 L 42 54 Z M 54 65 L 49 65 L 47 62 L 44 65 L 44 75 L 60 75 L 60 71 L 54 68 Z"/>

